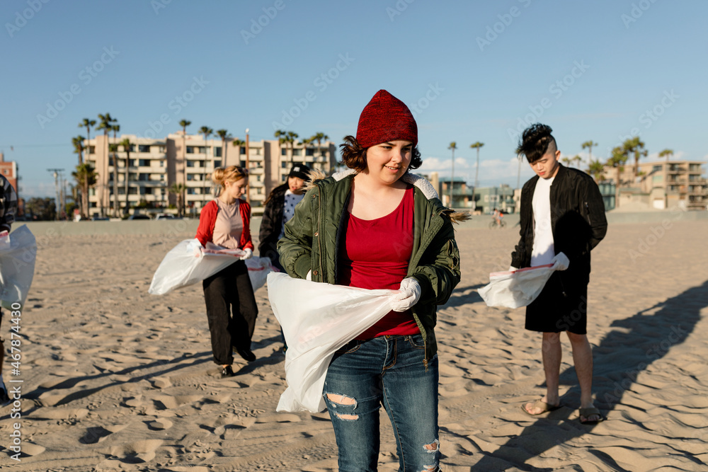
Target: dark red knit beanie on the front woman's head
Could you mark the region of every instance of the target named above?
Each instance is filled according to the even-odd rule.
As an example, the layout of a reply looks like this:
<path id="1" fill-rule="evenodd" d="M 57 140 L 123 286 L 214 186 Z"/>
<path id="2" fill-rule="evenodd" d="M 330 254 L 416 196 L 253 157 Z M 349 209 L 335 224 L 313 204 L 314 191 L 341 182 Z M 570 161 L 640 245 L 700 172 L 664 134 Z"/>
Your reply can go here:
<path id="1" fill-rule="evenodd" d="M 403 139 L 418 144 L 418 125 L 405 103 L 379 90 L 359 117 L 356 140 L 363 148 Z"/>

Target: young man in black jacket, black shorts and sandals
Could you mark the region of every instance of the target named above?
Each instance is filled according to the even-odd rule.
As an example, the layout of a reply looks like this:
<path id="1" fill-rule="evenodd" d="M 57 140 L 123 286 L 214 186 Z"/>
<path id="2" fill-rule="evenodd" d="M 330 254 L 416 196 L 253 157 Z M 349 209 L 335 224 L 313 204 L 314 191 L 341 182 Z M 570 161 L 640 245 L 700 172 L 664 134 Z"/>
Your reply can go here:
<path id="1" fill-rule="evenodd" d="M 536 176 L 521 190 L 520 240 L 511 255 L 511 269 L 551 263 L 564 253 L 567 270 L 556 270 L 539 297 L 526 308 L 527 330 L 542 335 L 546 395 L 522 405 L 529 415 L 560 407 L 561 332 L 573 350 L 581 388 L 580 422 L 603 420 L 593 405 L 593 353 L 587 336 L 590 250 L 607 232 L 605 205 L 590 175 L 559 163 L 561 151 L 552 129 L 539 123 L 525 129 L 517 153 L 526 156 Z"/>

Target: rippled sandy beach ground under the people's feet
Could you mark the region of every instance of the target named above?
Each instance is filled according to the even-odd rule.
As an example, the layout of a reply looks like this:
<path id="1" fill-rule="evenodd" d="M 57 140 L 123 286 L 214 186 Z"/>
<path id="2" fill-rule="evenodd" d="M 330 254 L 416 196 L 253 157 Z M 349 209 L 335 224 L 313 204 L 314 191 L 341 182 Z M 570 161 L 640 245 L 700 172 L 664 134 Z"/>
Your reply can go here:
<path id="1" fill-rule="evenodd" d="M 462 282 L 436 328 L 445 471 L 708 471 L 708 220 L 666 221 L 611 225 L 593 251 L 588 336 L 607 416 L 594 426 L 578 422 L 566 337 L 564 407 L 537 418 L 520 409 L 544 393 L 539 335 L 523 329 L 524 309 L 489 308 L 477 293 L 508 267 L 518 228 L 459 226 Z M 336 471 L 328 413 L 275 412 L 285 357 L 265 287 L 258 360 L 237 360 L 230 379 L 212 362 L 201 285 L 148 294 L 164 255 L 189 237 L 38 235 L 19 375 L 4 363 L 6 383 L 22 380 L 21 416 L 1 412 L 0 468 Z M 5 312 L 6 340 L 10 326 Z M 395 471 L 382 416 L 379 470 Z"/>

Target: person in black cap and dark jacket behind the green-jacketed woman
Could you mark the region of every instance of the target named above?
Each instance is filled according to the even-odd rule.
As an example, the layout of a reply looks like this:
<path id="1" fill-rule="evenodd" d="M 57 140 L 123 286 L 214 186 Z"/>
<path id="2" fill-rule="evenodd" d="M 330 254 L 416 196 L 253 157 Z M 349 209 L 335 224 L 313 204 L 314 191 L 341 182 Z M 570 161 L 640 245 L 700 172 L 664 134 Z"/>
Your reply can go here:
<path id="1" fill-rule="evenodd" d="M 278 240 L 285 234 L 285 223 L 289 221 L 295 214 L 295 205 L 297 205 L 304 197 L 305 192 L 303 186 L 309 179 L 307 173 L 310 168 L 304 164 L 295 164 L 290 169 L 287 175 L 287 182 L 278 185 L 270 192 L 268 198 L 265 199 L 265 208 L 263 209 L 263 219 L 261 219 L 261 230 L 258 232 L 258 255 L 261 258 L 270 258 L 270 263 L 273 264 L 280 272 L 285 272 L 285 269 L 280 265 L 280 255 L 278 255 Z M 280 330 L 280 338 L 282 340 L 282 350 L 287 350 L 285 336 Z"/>

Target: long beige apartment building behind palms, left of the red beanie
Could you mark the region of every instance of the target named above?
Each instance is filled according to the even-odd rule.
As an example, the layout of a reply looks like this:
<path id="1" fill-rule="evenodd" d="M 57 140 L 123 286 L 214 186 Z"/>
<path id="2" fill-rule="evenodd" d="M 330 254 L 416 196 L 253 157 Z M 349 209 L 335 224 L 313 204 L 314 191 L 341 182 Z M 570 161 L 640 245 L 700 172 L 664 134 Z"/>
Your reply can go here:
<path id="1" fill-rule="evenodd" d="M 130 139 L 131 149 L 123 146 L 118 151 L 108 150 L 108 143 Z M 308 145 L 295 142 L 292 150 L 277 139 L 249 141 L 246 145 L 233 145 L 234 138 L 222 143 L 221 139 L 207 139 L 203 135 L 181 132 L 169 134 L 164 139 L 148 139 L 123 134 L 113 139 L 97 136 L 89 142 L 88 160 L 98 174 L 96 185 L 89 195 L 89 213 L 111 216 L 118 195 L 119 214 L 127 207 L 129 212 L 161 212 L 176 205 L 177 197 L 169 192 L 173 184 L 185 185 L 185 213 L 198 216 L 201 208 L 216 196 L 217 188 L 211 180 L 212 172 L 219 166 L 246 167 L 249 161 L 249 197 L 254 212 L 290 172 L 291 162 L 305 163 L 324 173 L 331 173 L 336 166 L 336 144 L 323 142 Z M 222 144 L 224 144 L 222 146 Z M 130 154 L 127 167 L 126 159 Z M 291 156 L 292 154 L 292 156 Z M 113 159 L 117 156 L 117 166 Z M 114 185 L 114 178 L 116 185 Z M 114 189 L 117 191 L 114 194 Z"/>

